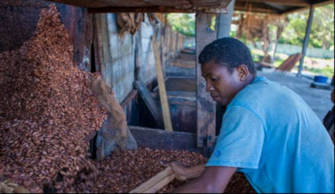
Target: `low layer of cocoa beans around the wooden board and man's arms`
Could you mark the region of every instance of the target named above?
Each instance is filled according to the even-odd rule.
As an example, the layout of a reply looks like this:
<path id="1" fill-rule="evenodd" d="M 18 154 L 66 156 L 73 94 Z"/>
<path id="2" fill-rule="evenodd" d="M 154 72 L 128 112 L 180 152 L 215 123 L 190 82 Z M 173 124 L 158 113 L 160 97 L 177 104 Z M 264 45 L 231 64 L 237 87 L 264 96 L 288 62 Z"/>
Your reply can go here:
<path id="1" fill-rule="evenodd" d="M 112 154 L 104 161 L 96 163 L 98 176 L 91 180 L 91 193 L 128 193 L 145 181 L 165 169 L 160 161 L 179 161 L 186 167 L 204 164 L 207 158 L 191 151 L 164 151 L 159 149 L 139 148 Z M 174 179 L 157 193 L 170 193 L 185 184 L 186 181 Z M 248 184 L 244 174 L 234 173 L 225 193 L 255 193 Z"/>

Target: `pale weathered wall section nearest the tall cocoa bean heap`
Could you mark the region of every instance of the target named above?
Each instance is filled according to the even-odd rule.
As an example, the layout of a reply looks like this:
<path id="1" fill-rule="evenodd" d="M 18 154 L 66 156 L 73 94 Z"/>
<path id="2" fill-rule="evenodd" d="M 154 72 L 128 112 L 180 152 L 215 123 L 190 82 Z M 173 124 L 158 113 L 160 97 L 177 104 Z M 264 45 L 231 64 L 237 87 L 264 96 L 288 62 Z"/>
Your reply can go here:
<path id="1" fill-rule="evenodd" d="M 133 89 L 135 57 L 133 36 L 119 37 L 116 17 L 112 13 L 96 14 L 97 61 L 101 61 L 103 80 L 110 84 L 121 103 Z"/>

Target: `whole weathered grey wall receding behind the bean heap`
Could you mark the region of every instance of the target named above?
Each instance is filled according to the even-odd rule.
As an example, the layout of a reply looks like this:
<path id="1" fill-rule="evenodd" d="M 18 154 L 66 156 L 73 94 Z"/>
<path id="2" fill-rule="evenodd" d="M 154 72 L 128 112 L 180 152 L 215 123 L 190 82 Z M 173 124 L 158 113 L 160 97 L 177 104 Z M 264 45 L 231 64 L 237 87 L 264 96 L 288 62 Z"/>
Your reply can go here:
<path id="1" fill-rule="evenodd" d="M 133 89 L 135 73 L 137 79 L 144 84 L 148 84 L 156 77 L 155 58 L 151 44 L 154 29 L 145 15 L 144 22 L 133 36 L 127 32 L 120 37 L 116 21 L 114 13 L 95 14 L 94 43 L 97 70 L 101 71 L 103 80 L 113 87 L 114 94 L 121 103 Z M 179 47 L 184 43 L 184 36 L 178 35 L 168 24 L 166 25 L 165 32 L 167 33 L 163 33 L 161 37 L 163 63 L 175 56 Z M 135 46 L 137 47 L 136 52 Z"/>

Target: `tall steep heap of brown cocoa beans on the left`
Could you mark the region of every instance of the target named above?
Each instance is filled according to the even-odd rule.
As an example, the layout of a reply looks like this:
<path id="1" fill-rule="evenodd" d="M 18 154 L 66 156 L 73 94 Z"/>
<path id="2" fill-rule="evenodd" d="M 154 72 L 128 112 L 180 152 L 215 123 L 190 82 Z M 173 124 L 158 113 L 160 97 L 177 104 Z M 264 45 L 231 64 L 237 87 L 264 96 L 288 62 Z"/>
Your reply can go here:
<path id="1" fill-rule="evenodd" d="M 52 5 L 34 36 L 0 54 L 0 174 L 33 193 L 80 192 L 96 176 L 84 138 L 107 117 L 73 64 L 73 45 Z M 78 181 L 79 180 L 79 181 Z"/>

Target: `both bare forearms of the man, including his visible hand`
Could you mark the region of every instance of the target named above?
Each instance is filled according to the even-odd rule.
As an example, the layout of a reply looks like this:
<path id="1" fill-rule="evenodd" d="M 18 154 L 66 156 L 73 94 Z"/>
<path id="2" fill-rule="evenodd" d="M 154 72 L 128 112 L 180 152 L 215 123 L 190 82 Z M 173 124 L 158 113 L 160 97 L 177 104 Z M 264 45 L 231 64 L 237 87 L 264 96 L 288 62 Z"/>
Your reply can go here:
<path id="1" fill-rule="evenodd" d="M 210 166 L 204 167 L 204 164 L 193 167 L 184 167 L 180 163 L 166 163 L 174 171 L 176 179 L 193 179 L 187 184 L 180 186 L 172 193 L 223 193 L 228 185 L 236 167 Z"/>

